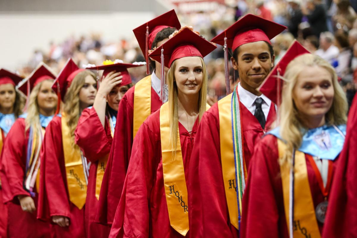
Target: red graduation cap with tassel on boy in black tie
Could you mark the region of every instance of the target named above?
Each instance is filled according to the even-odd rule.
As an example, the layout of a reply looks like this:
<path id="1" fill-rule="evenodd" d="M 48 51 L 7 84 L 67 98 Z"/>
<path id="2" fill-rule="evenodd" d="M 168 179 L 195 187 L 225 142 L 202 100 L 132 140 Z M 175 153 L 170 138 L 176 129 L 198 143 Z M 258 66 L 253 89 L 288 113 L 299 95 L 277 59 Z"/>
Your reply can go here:
<path id="1" fill-rule="evenodd" d="M 270 40 L 285 29 L 286 26 L 253 14 L 247 14 L 211 40 L 218 45 L 222 45 L 225 51 L 227 94 L 230 93 L 227 47 L 235 51 L 241 45 L 256 41 L 266 41 L 271 44 Z"/>

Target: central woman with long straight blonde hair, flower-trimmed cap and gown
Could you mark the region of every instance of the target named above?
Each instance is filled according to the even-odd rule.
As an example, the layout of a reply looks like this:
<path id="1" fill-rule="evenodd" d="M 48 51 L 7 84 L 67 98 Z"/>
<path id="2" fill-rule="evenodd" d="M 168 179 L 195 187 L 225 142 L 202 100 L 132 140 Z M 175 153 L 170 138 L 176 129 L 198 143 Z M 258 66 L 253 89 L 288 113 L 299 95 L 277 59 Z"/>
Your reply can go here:
<path id="1" fill-rule="evenodd" d="M 188 163 L 209 108 L 203 57 L 216 46 L 190 27 L 176 33 L 150 54 L 165 58 L 169 100 L 137 132 L 110 237 L 189 237 Z"/>

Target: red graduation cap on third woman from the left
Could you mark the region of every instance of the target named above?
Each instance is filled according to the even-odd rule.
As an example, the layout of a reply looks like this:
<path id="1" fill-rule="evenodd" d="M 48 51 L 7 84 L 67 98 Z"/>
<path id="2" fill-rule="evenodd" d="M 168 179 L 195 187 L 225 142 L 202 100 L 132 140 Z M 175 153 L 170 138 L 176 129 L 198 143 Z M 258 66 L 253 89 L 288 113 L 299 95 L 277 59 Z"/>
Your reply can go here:
<path id="1" fill-rule="evenodd" d="M 55 82 L 52 85 L 52 89 L 57 93 L 58 100 L 64 101 L 67 88 L 71 85 L 74 77 L 79 73 L 84 71 L 84 69 L 80 69 L 75 62 L 69 58 L 66 62 L 65 67 L 58 74 Z"/>

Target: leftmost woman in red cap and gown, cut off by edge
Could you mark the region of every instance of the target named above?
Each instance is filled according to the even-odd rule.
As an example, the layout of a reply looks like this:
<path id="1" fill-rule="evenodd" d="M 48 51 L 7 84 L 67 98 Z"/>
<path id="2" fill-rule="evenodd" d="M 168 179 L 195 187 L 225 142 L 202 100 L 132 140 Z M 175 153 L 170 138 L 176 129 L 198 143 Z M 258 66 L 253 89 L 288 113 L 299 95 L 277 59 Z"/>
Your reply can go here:
<path id="1" fill-rule="evenodd" d="M 5 69 L 0 69 L 0 154 L 5 138 L 17 117 L 22 113 L 24 98 L 15 90 L 23 78 Z M 0 161 L 1 167 L 1 161 Z M 7 206 L 2 200 L 0 179 L 0 237 L 7 237 Z"/>

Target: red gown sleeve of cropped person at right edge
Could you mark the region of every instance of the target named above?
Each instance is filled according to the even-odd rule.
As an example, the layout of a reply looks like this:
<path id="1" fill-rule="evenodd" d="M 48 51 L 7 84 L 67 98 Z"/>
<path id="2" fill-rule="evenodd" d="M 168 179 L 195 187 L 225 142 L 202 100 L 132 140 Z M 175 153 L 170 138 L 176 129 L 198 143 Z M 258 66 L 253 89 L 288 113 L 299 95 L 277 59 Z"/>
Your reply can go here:
<path id="1" fill-rule="evenodd" d="M 357 97 L 347 121 L 345 145 L 331 187 L 323 238 L 357 237 Z"/>

